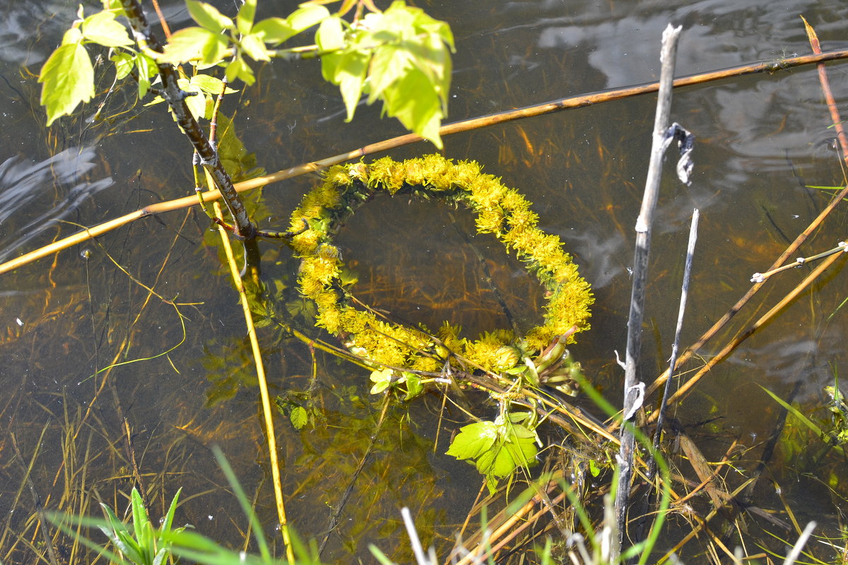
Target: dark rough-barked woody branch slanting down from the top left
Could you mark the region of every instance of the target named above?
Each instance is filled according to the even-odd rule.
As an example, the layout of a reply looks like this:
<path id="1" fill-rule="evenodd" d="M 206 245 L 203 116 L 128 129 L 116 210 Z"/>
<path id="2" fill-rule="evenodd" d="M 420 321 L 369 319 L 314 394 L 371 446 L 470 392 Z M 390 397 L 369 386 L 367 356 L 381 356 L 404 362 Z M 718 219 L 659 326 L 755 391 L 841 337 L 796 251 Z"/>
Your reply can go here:
<path id="1" fill-rule="evenodd" d="M 130 21 L 130 27 L 138 45 L 142 48 L 148 47 L 153 52 L 161 53 L 162 45 L 153 35 L 153 31 L 150 30 L 139 0 L 121 0 L 121 6 L 124 8 L 126 18 Z M 194 119 L 189 111 L 186 105 L 187 93 L 182 91 L 177 84 L 177 80 L 180 78 L 179 74 L 170 64 L 157 63 L 156 66 L 159 69 L 159 76 L 162 78 L 165 102 L 168 102 L 168 106 L 176 118 L 176 123 L 180 125 L 188 141 L 192 143 L 194 152 L 200 158 L 200 163 L 203 164 L 205 169 L 209 170 L 209 174 L 215 180 L 215 185 L 217 185 L 226 202 L 226 208 L 232 215 L 236 236 L 241 240 L 253 240 L 256 236 L 256 227 L 248 218 L 247 210 L 245 210 L 241 198 L 238 197 L 238 192 L 232 186 L 232 179 L 220 162 L 217 149 L 209 143 L 209 138 L 200 128 L 198 120 Z"/>

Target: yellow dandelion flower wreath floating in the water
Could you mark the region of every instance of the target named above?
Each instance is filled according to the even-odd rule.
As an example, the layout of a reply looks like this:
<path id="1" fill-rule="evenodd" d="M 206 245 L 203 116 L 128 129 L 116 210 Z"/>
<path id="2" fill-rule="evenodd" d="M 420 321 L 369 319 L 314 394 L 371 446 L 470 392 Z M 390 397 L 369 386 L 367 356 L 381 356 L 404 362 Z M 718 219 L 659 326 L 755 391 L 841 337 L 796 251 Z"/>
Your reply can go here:
<path id="1" fill-rule="evenodd" d="M 333 240 L 344 220 L 380 191 L 461 203 L 476 213 L 477 232 L 494 234 L 544 286 L 544 324 L 523 336 L 494 330 L 471 341 L 460 337 L 460 327 L 449 322 L 434 336 L 423 326 L 393 324 L 354 306 Z M 291 244 L 302 258 L 298 287 L 315 302 L 315 325 L 338 335 L 350 352 L 368 363 L 435 372 L 455 356 L 477 368 L 505 371 L 561 336 L 573 342 L 576 331 L 589 329 L 589 306 L 594 302 L 589 283 L 577 274 L 560 238 L 539 230 L 537 223 L 530 202 L 499 178 L 483 174 L 473 161 L 453 163 L 441 155 L 426 155 L 402 162 L 381 158 L 335 165 L 292 213 L 291 233 L 296 235 Z"/>

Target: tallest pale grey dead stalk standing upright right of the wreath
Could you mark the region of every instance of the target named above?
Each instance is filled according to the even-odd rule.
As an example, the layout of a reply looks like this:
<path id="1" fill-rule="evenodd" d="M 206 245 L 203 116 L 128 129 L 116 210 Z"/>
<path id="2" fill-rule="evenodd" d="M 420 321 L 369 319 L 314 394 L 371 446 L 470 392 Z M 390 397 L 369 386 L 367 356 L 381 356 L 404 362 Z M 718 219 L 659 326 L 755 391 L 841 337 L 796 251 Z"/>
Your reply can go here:
<path id="1" fill-rule="evenodd" d="M 669 24 L 662 32 L 662 49 L 660 61 L 660 90 L 656 102 L 656 116 L 650 150 L 648 176 L 645 180 L 642 208 L 636 219 L 636 249 L 633 252 L 633 291 L 630 296 L 630 314 L 628 316 L 628 343 L 624 366 L 624 419 L 622 421 L 622 444 L 617 456 L 620 468 L 618 485 L 616 487 L 615 516 L 618 524 L 618 541 L 613 543 L 612 562 L 618 561 L 621 546 L 627 529 L 628 501 L 630 499 L 630 482 L 633 477 L 633 450 L 635 435 L 633 425 L 636 413 L 642 402 L 639 395 L 639 379 L 636 377 L 636 366 L 639 362 L 639 349 L 642 346 L 642 320 L 644 319 L 644 296 L 648 281 L 648 258 L 650 257 L 650 233 L 656 209 L 656 201 L 660 191 L 662 178 L 662 156 L 665 150 L 665 135 L 669 115 L 672 108 L 672 79 L 674 62 L 677 58 L 678 38 L 681 26 Z"/>

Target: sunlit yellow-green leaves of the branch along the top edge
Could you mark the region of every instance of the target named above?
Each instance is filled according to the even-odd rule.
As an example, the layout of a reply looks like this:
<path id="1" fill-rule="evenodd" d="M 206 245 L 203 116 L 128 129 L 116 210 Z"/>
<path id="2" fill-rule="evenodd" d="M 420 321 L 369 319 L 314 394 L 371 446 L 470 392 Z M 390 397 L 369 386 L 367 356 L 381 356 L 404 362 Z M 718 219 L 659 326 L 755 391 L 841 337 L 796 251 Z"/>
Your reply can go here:
<path id="1" fill-rule="evenodd" d="M 321 57 L 326 80 L 339 86 L 348 120 L 366 94 L 369 104 L 381 100 L 385 114 L 441 148 L 438 128 L 447 114 L 450 52 L 454 49 L 449 26 L 401 0 L 385 12 L 366 3 L 373 10 L 353 23 L 344 20 L 343 14 L 331 14 L 323 4 L 305 3 L 287 18 L 254 22 L 256 0 L 243 3 L 235 19 L 211 4 L 186 0 L 188 12 L 198 25 L 177 30 L 164 53 L 134 47 L 126 27 L 115 19 L 122 14 L 121 8 L 107 8 L 88 17 L 80 8 L 79 19 L 65 34 L 62 46 L 47 59 L 39 77 L 47 125 L 94 96 L 94 72 L 86 44 L 111 50 L 109 60 L 115 65 L 116 79 L 133 75 L 139 98 L 147 94 L 158 72 L 157 64 L 194 65 L 190 78 L 178 67 L 183 75 L 179 86 L 196 95 L 186 100 L 198 119 L 209 118 L 209 95 L 221 91 L 220 84 L 214 82 L 220 80 L 198 74 L 199 69 L 223 67 L 228 81 L 243 80 L 251 85 L 255 76 L 248 61 L 287 57 L 290 50 L 274 47 L 317 26 L 317 45 L 311 54 Z M 349 11 L 350 5 L 344 3 L 343 10 Z M 303 49 L 299 51 L 303 53 Z"/>

